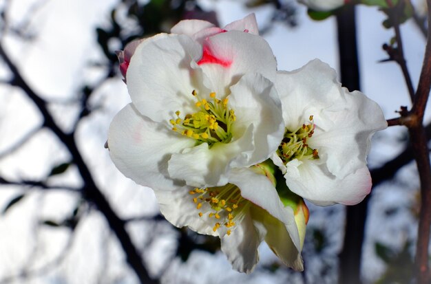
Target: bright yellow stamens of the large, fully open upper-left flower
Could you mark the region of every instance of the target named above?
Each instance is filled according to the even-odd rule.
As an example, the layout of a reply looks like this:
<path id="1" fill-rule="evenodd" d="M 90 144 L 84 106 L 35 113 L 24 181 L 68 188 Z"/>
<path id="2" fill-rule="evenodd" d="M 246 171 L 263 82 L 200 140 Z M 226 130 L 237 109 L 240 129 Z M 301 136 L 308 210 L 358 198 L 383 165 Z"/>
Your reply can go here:
<path id="1" fill-rule="evenodd" d="M 200 98 L 193 90 L 191 94 L 196 98 L 195 113 L 187 113 L 184 118 L 180 118 L 180 111 L 176 111 L 176 118 L 169 120 L 172 130 L 193 138 L 198 144 L 204 142 L 212 146 L 216 142 L 229 143 L 232 139 L 232 124 L 235 122 L 235 112 L 229 109 L 229 99 L 220 100 L 215 93 L 209 94 L 212 101 L 209 102 Z"/>

